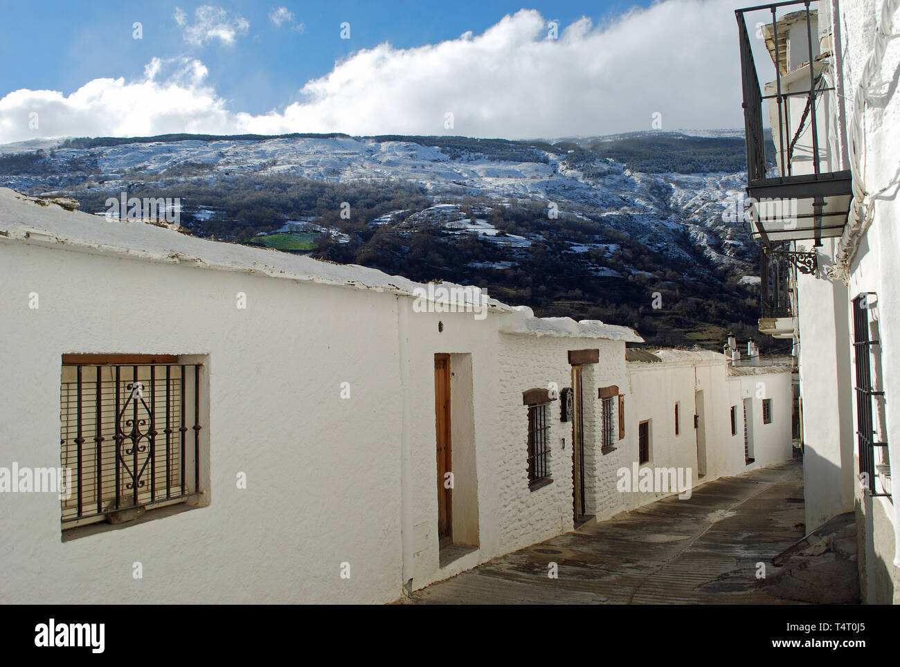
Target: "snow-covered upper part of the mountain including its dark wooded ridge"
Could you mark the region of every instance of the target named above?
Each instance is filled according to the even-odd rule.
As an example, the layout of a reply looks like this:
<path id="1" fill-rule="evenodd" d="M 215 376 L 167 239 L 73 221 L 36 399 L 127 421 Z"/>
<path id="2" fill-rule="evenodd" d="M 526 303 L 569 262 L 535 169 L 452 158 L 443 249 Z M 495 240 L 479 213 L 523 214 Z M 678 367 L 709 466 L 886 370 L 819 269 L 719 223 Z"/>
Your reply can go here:
<path id="1" fill-rule="evenodd" d="M 686 277 L 697 277 L 699 257 L 716 268 L 752 274 L 755 270 L 749 237 L 740 224 L 723 220 L 729 202 L 743 191 L 743 141 L 723 131 L 706 133 L 706 138 L 696 134 L 704 133 L 692 137 L 648 132 L 554 143 L 343 135 L 45 139 L 40 145 L 21 142 L 0 146 L 0 184 L 30 193 L 66 193 L 82 200 L 83 205 L 87 203 L 87 208 L 96 208 L 96 204 L 91 207 L 91 201 L 117 196 L 138 185 L 157 196 L 176 197 L 184 191 L 187 196 L 182 197 L 182 210 L 208 220 L 214 214 L 214 202 L 192 201 L 189 185 L 235 182 L 247 177 L 266 178 L 268 182 L 302 178 L 349 187 L 363 182 L 405 182 L 419 187 L 429 200 L 429 205 L 419 210 L 400 211 L 405 225 L 433 220 L 451 234 L 468 230 L 496 237 L 498 230 L 486 218 L 466 218 L 459 210 L 448 216 L 447 207 L 453 208 L 465 197 L 486 199 L 493 202 L 494 209 L 502 209 L 510 201 L 541 202 L 551 220 L 574 216 L 598 223 L 596 238 L 568 239 L 573 253 L 585 253 L 592 245 L 608 246 L 602 230 L 615 229 L 670 257 L 676 268 L 682 265 L 677 272 Z M 661 140 L 668 143 L 657 146 Z M 632 159 L 635 141 L 640 150 L 636 160 Z M 689 142 L 685 155 L 691 147 L 706 150 L 714 146 L 725 154 L 730 151 L 734 159 L 725 162 L 732 168 L 678 173 L 666 171 L 671 165 L 665 161 L 662 169 L 651 161 L 653 169 L 642 171 L 654 149 L 668 155 L 677 142 Z M 617 147 L 625 147 L 620 151 L 622 156 L 616 155 Z M 557 218 L 549 214 L 551 210 Z M 490 211 L 491 206 L 485 209 Z M 220 211 L 220 215 L 233 214 Z M 290 218 L 286 213 L 284 222 Z M 371 220 L 375 226 L 396 222 L 396 217 L 384 216 Z M 528 234 L 512 236 L 518 236 L 518 247 L 527 247 Z M 504 243 L 513 241 L 508 235 Z"/>

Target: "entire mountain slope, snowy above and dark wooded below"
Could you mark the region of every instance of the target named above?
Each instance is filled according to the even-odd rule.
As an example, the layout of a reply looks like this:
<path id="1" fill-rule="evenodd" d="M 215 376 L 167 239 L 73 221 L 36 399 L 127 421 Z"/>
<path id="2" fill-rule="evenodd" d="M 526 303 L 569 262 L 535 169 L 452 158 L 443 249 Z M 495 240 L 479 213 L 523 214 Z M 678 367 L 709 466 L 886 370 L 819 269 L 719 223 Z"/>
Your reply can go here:
<path id="1" fill-rule="evenodd" d="M 472 282 L 653 342 L 718 346 L 757 316 L 741 284 L 754 247 L 722 216 L 743 190 L 743 138 L 176 135 L 30 148 L 0 147 L 0 184 L 98 213 L 122 191 L 177 197 L 200 236 Z"/>

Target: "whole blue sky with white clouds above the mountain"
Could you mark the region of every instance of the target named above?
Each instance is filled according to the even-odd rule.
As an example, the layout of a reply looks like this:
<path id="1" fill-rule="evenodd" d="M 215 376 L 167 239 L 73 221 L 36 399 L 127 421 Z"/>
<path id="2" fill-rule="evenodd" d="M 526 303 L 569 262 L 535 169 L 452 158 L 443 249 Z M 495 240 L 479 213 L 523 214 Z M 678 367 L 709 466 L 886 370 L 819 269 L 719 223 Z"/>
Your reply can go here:
<path id="1" fill-rule="evenodd" d="M 734 0 L 283 2 L 0 2 L 0 143 L 743 126 Z"/>

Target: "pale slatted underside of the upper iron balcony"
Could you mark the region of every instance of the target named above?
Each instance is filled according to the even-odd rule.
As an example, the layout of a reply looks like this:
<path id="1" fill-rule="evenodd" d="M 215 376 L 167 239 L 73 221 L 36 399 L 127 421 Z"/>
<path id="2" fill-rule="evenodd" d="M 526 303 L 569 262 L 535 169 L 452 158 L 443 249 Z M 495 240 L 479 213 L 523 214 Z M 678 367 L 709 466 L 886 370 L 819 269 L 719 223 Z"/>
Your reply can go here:
<path id="1" fill-rule="evenodd" d="M 751 236 L 766 245 L 843 234 L 852 197 L 851 173 L 808 174 L 752 181 Z"/>

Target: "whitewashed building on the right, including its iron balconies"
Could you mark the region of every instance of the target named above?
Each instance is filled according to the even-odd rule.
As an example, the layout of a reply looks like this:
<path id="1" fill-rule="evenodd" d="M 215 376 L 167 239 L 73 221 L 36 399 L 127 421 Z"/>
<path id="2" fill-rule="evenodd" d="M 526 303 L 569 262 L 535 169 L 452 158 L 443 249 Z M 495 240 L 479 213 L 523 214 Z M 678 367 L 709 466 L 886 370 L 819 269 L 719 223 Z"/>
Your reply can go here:
<path id="1" fill-rule="evenodd" d="M 822 0 L 737 13 L 748 192 L 763 257 L 760 329 L 798 350 L 806 529 L 856 512 L 871 603 L 900 601 L 891 487 L 900 412 L 890 407 L 900 396 L 898 4 Z M 764 115 L 777 163 L 770 173 Z"/>

